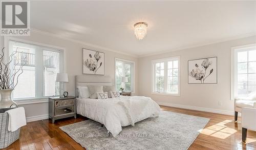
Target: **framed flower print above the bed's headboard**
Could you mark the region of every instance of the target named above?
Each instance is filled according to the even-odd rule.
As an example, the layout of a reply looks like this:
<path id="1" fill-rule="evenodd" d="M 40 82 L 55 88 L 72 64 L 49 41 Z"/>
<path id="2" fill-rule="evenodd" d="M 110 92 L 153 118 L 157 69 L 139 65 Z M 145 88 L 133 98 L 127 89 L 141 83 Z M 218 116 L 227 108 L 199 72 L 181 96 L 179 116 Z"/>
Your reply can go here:
<path id="1" fill-rule="evenodd" d="M 104 75 L 104 53 L 82 49 L 82 73 Z"/>

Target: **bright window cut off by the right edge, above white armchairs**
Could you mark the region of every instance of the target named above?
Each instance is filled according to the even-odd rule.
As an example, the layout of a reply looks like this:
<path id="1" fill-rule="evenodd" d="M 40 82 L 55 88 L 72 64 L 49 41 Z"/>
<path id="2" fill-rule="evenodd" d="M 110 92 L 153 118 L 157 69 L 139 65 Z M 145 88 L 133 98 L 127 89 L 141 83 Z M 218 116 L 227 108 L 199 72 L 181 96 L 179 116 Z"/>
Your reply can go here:
<path id="1" fill-rule="evenodd" d="M 231 97 L 256 92 L 256 44 L 232 49 Z"/>

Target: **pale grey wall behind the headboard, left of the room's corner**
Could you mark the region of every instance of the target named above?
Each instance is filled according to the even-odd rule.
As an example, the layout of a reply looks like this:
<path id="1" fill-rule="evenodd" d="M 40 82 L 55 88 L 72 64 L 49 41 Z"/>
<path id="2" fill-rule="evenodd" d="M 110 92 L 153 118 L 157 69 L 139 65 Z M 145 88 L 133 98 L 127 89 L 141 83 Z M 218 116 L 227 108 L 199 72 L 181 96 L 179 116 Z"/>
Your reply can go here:
<path id="1" fill-rule="evenodd" d="M 0 38 L 1 46 L 3 46 L 3 36 L 0 36 Z M 75 76 L 82 75 L 82 48 L 88 48 L 105 53 L 105 75 L 112 77 L 113 84 L 115 81 L 115 57 L 135 61 L 135 82 L 138 83 L 138 58 L 94 47 L 88 47 L 83 44 L 78 44 L 78 42 L 75 41 L 70 41 L 56 36 L 47 35 L 45 33 L 31 32 L 30 36 L 18 36 L 11 38 L 39 42 L 41 44 L 65 48 L 65 70 L 69 75 L 69 82 L 66 83 L 66 90 L 69 92 L 69 95 L 75 95 Z M 138 95 L 138 93 L 138 84 L 135 84 L 134 95 Z M 48 103 L 46 102 L 36 104 L 25 104 L 20 106 L 24 106 L 26 110 L 26 117 L 29 118 L 30 121 L 34 121 L 37 118 L 42 119 L 48 117 Z"/>

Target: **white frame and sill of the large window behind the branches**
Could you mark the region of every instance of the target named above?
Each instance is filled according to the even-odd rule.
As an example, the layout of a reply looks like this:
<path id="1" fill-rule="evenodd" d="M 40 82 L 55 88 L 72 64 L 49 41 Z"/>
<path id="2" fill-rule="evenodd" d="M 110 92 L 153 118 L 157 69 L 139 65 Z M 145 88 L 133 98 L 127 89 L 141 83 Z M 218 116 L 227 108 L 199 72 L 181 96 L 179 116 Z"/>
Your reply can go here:
<path id="1" fill-rule="evenodd" d="M 35 46 L 35 47 L 40 47 L 43 50 L 47 50 L 50 49 L 53 52 L 60 52 L 60 54 L 62 55 L 62 58 L 60 57 L 60 63 L 62 63 L 62 65 L 60 65 L 59 67 L 59 72 L 65 72 L 66 71 L 66 49 L 63 47 L 58 47 L 58 46 L 53 46 L 53 45 L 48 45 L 48 44 L 43 44 L 40 42 L 34 42 L 34 41 L 29 41 L 29 40 L 23 40 L 23 39 L 19 39 L 19 38 L 14 38 L 14 37 L 5 37 L 4 38 L 4 45 L 5 45 L 5 58 L 4 61 L 8 60 L 9 57 L 9 48 L 10 48 L 10 41 L 14 41 L 14 42 L 20 42 L 20 43 L 24 43 L 27 45 L 31 45 L 31 46 Z M 59 83 L 60 84 L 60 83 Z M 59 87 L 61 86 L 61 84 L 59 85 Z M 44 88 L 42 90 L 45 90 Z M 63 86 L 63 90 L 66 90 L 66 84 L 64 84 Z M 61 94 L 61 91 L 60 91 Z M 12 95 L 13 97 L 13 95 Z M 17 102 L 18 104 L 33 104 L 33 103 L 41 103 L 41 102 L 47 102 L 48 101 L 48 97 L 49 96 L 42 96 L 42 97 L 35 97 L 35 98 L 20 98 L 20 99 L 14 99 L 15 102 Z"/>

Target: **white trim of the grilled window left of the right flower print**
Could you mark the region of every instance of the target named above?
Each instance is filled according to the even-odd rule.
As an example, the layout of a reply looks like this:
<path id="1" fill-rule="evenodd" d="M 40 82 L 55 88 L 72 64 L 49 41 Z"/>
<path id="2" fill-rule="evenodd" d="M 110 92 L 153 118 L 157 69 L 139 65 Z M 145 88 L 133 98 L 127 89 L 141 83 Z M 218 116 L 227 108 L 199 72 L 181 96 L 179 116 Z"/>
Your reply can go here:
<path id="1" fill-rule="evenodd" d="M 163 62 L 163 61 L 170 61 L 170 60 L 177 60 L 178 59 L 178 78 L 179 78 L 179 92 L 178 94 L 173 94 L 173 93 L 168 93 L 168 92 L 155 92 L 155 63 L 157 62 Z M 180 56 L 175 56 L 175 57 L 169 57 L 169 58 L 162 58 L 162 59 L 156 59 L 152 60 L 152 85 L 151 85 L 151 94 L 156 94 L 156 95 L 169 95 L 169 96 L 180 96 L 180 87 L 181 87 L 181 82 L 180 82 Z M 164 74 L 167 74 L 167 65 L 164 65 Z M 167 80 L 164 79 L 164 86 L 167 87 Z"/>

